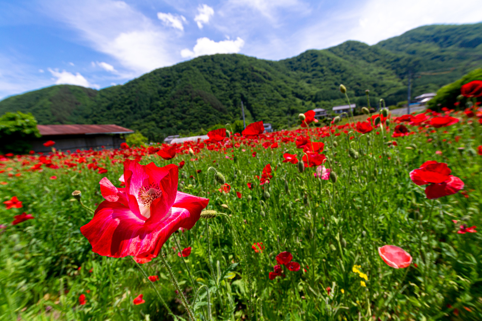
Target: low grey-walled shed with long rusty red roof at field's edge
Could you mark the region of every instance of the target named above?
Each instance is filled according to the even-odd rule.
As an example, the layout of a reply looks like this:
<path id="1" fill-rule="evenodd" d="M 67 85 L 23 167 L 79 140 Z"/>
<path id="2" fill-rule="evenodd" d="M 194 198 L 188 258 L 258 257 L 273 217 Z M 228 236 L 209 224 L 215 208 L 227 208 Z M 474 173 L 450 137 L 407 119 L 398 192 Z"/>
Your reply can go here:
<path id="1" fill-rule="evenodd" d="M 49 152 L 52 147 L 45 147 L 48 140 L 55 142 L 54 147 L 61 150 L 120 148 L 125 142 L 121 134 L 133 134 L 134 131 L 118 125 L 37 125 L 40 138 L 32 141 L 35 152 Z"/>

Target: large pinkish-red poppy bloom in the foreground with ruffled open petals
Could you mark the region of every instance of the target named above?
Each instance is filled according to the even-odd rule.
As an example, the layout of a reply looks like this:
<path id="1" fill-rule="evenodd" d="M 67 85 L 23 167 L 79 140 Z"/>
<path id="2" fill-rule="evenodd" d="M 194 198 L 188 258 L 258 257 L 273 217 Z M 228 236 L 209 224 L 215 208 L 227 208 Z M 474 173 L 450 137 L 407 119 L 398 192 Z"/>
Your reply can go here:
<path id="1" fill-rule="evenodd" d="M 92 220 L 80 227 L 97 254 L 124 257 L 157 256 L 179 227 L 189 229 L 199 220 L 209 199 L 177 191 L 178 167 L 124 161 L 124 188 L 106 177 Z"/>

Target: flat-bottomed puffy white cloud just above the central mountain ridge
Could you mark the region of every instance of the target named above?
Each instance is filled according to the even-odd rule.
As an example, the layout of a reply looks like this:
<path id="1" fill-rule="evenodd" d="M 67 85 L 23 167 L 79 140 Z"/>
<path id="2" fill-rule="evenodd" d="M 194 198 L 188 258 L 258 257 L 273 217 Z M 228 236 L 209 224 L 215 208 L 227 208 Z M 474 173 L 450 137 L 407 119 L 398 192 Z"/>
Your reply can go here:
<path id="1" fill-rule="evenodd" d="M 194 46 L 193 50 L 183 49 L 181 50 L 181 56 L 183 58 L 193 58 L 205 54 L 236 54 L 239 53 L 244 40 L 238 37 L 236 40 L 222 40 L 216 42 L 209 38 L 199 38 Z"/>

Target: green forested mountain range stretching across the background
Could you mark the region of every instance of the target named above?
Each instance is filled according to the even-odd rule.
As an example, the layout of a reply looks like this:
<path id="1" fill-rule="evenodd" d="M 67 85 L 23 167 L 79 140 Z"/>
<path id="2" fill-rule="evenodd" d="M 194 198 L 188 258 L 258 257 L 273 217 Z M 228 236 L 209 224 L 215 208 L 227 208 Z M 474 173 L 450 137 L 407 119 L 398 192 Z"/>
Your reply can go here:
<path id="1" fill-rule="evenodd" d="M 384 98 L 406 100 L 407 74 L 453 68 L 443 75 L 413 81 L 413 97 L 436 91 L 482 67 L 482 24 L 419 27 L 369 46 L 347 41 L 325 50 L 269 61 L 241 54 L 201 56 L 149 72 L 124 85 L 99 91 L 57 85 L 0 102 L 0 114 L 31 112 L 40 124 L 116 123 L 152 140 L 187 134 L 241 118 L 241 99 L 249 121 L 294 124 L 310 108 L 343 104 L 343 83 L 358 106 Z"/>

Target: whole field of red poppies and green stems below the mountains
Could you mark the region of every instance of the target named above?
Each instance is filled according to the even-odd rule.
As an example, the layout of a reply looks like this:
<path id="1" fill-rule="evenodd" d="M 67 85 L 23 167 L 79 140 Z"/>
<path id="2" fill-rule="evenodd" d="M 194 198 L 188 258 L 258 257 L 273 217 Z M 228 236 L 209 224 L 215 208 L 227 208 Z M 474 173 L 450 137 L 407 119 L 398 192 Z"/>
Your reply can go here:
<path id="1" fill-rule="evenodd" d="M 473 96 L 2 155 L 0 319 L 482 320 Z"/>

